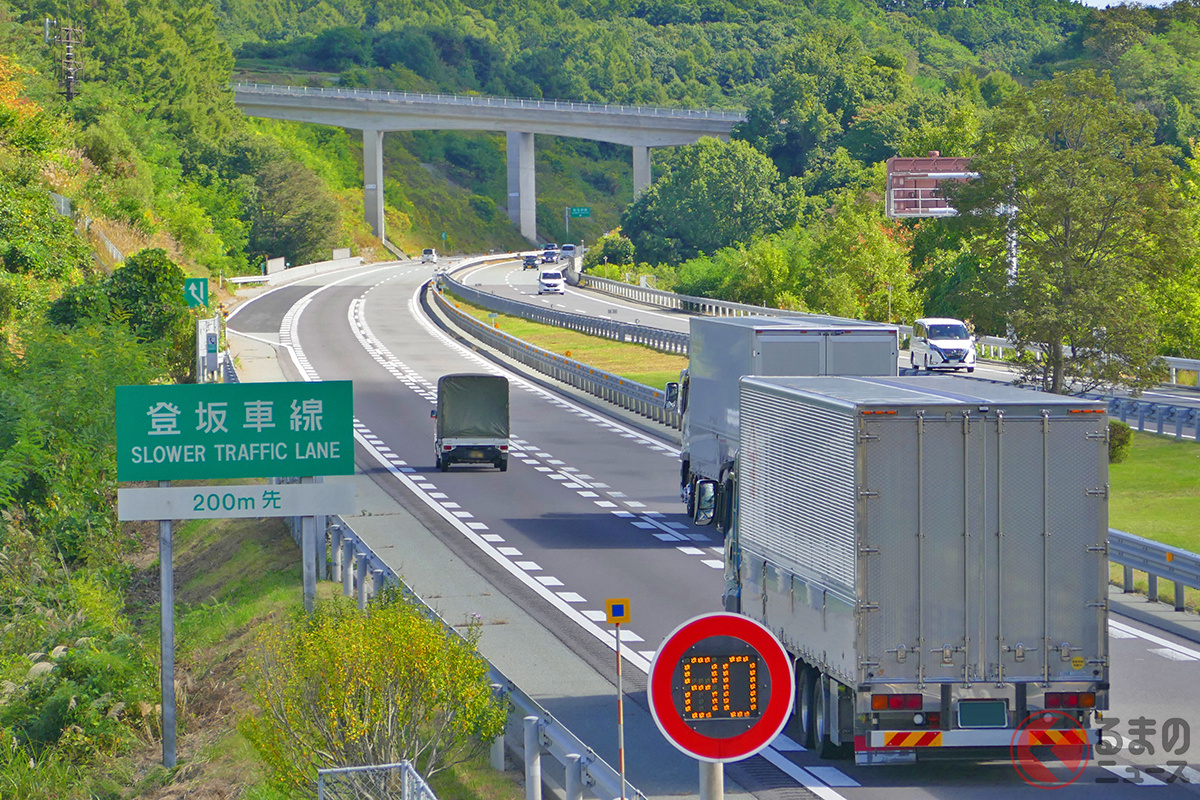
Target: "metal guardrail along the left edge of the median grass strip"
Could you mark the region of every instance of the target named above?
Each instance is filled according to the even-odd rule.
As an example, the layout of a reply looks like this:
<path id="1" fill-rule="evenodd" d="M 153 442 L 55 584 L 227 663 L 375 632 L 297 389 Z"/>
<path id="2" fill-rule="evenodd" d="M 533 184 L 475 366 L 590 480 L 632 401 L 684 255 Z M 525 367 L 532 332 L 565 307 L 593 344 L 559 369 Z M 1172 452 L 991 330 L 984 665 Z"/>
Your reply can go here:
<path id="1" fill-rule="evenodd" d="M 440 277 L 444 279 L 445 276 Z M 672 428 L 680 426 L 679 414 L 667 407 L 665 391 L 640 384 L 636 380 L 614 375 L 604 369 L 589 367 L 586 363 L 568 359 L 557 353 L 542 350 L 515 336 L 498 331 L 464 311 L 456 308 L 437 288 L 434 284 L 432 296 L 439 308 L 450 314 L 460 325 L 470 331 L 473 336 L 491 344 L 509 357 L 528 365 L 556 380 L 582 389 L 589 395 L 606 399 L 655 422 L 668 425 Z"/>

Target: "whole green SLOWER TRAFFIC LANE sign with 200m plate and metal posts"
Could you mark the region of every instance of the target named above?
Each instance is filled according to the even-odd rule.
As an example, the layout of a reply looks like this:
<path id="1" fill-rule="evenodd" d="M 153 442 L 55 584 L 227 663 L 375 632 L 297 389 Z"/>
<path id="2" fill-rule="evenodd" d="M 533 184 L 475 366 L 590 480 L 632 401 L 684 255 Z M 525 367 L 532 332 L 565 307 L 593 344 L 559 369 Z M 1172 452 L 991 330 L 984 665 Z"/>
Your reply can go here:
<path id="1" fill-rule="evenodd" d="M 121 519 L 158 519 L 162 625 L 162 763 L 175 766 L 175 585 L 170 521 L 218 516 L 286 516 L 328 500 L 350 510 L 353 488 L 318 494 L 314 475 L 354 473 L 354 395 L 348 380 L 280 384 L 193 384 L 116 387 L 116 480 L 156 481 L 157 489 L 119 489 Z M 301 476 L 302 497 L 283 487 L 172 487 L 172 480 Z M 335 485 L 336 486 L 336 485 Z M 319 488 L 318 488 L 319 487 Z M 349 488 L 347 498 L 346 489 Z M 146 493 L 155 493 L 148 495 Z M 287 503 L 284 503 L 287 500 Z M 182 504 L 182 509 L 179 505 Z M 148 516 L 149 512 L 149 516 Z M 305 607 L 316 596 L 316 524 L 305 521 Z M 311 575 L 310 575 L 311 573 Z"/>

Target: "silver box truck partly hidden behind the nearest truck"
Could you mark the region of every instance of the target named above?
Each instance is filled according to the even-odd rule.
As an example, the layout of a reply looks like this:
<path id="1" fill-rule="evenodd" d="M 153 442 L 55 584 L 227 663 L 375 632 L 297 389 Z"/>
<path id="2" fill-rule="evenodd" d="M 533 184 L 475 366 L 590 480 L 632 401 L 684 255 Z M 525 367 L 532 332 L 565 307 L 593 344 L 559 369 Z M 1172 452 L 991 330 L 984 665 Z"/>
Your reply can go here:
<path id="1" fill-rule="evenodd" d="M 738 452 L 743 375 L 895 375 L 895 326 L 779 317 L 692 317 L 688 368 L 676 408 L 683 415 L 679 491 L 697 522 L 726 528 L 728 471 Z M 698 515 L 698 516 L 697 516 Z"/>

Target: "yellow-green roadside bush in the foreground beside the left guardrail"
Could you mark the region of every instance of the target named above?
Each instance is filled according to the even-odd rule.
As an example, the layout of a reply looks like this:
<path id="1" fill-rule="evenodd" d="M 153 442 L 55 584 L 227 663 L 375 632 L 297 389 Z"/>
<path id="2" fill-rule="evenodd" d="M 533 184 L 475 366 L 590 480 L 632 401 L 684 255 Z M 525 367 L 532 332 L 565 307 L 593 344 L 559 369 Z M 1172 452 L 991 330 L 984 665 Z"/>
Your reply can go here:
<path id="1" fill-rule="evenodd" d="M 314 796 L 324 766 L 409 759 L 436 775 L 504 729 L 479 631 L 446 631 L 398 590 L 368 614 L 320 601 L 258 637 L 245 672 L 258 710 L 244 730 L 289 796 Z"/>

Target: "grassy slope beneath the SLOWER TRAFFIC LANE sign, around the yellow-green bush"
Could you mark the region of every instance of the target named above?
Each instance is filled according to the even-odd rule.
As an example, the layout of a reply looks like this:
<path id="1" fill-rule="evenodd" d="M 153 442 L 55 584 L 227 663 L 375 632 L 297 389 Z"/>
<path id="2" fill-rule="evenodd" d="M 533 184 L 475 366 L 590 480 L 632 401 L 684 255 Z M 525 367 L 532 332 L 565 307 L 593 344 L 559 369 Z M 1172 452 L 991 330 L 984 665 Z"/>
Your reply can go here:
<path id="1" fill-rule="evenodd" d="M 140 533 L 144 547 L 128 604 L 148 649 L 157 650 L 157 525 Z M 258 628 L 302 602 L 299 548 L 282 519 L 176 523 L 174 546 L 179 763 L 163 769 L 161 745 L 148 744 L 104 770 L 104 796 L 286 800 L 238 729 L 253 708 L 239 670 Z M 322 596 L 341 591 L 332 582 L 317 588 Z M 518 800 L 518 777 L 493 771 L 485 752 L 436 776 L 433 786 L 444 787 L 439 800 Z"/>

